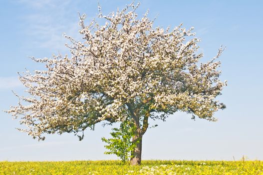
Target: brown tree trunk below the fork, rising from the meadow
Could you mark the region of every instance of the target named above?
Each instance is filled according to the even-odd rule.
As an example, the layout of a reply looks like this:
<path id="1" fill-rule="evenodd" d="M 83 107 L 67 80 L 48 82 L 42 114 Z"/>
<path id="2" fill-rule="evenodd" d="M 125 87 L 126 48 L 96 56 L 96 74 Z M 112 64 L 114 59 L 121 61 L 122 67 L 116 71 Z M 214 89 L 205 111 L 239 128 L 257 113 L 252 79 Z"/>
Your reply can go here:
<path id="1" fill-rule="evenodd" d="M 131 165 L 140 165 L 142 158 L 142 134 L 138 133 L 132 137 L 132 142 L 137 142 L 134 151 L 132 152 L 133 157 L 130 159 Z"/>

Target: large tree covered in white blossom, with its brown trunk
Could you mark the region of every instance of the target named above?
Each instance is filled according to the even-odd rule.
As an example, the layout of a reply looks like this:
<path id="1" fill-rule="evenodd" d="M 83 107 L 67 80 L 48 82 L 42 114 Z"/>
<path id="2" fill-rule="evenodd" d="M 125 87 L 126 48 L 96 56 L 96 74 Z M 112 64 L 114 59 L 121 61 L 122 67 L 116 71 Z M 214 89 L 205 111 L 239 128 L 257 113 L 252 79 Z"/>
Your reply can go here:
<path id="1" fill-rule="evenodd" d="M 73 132 L 83 138 L 86 128 L 104 121 L 122 122 L 131 118 L 136 129 L 131 164 L 140 164 L 142 137 L 149 118 L 165 120 L 176 111 L 216 120 L 214 112 L 225 108 L 215 98 L 226 85 L 219 80 L 218 58 L 198 65 L 199 39 L 192 29 L 153 27 L 146 12 L 138 17 L 133 3 L 107 16 L 105 25 L 96 20 L 84 24 L 83 40 L 67 45 L 71 56 L 61 54 L 37 59 L 46 69 L 20 73 L 29 96 L 18 96 L 17 106 L 7 111 L 26 127 L 33 138 L 43 133 Z M 186 38 L 189 38 L 188 40 Z"/>

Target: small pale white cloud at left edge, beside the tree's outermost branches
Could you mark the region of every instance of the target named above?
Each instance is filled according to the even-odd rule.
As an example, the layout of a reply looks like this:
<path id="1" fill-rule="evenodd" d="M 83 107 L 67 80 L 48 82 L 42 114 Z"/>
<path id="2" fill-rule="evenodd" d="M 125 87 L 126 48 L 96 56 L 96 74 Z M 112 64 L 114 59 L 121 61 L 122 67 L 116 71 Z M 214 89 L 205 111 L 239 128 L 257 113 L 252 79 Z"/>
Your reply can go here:
<path id="1" fill-rule="evenodd" d="M 0 89 L 10 89 L 14 87 L 22 87 L 22 83 L 18 77 L 0 77 Z"/>

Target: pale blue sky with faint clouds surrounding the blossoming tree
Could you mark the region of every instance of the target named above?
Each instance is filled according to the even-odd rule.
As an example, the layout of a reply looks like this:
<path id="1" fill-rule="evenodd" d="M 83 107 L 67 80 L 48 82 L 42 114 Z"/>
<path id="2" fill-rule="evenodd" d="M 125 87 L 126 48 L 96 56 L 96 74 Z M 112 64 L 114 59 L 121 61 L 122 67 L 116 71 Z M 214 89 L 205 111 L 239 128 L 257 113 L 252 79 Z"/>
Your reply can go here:
<path id="1" fill-rule="evenodd" d="M 131 0 L 99 0 L 102 12 L 121 9 Z M 138 2 L 138 1 L 135 1 Z M 218 99 L 227 108 L 215 113 L 217 122 L 192 120 L 190 114 L 176 112 L 143 136 L 142 159 L 263 160 L 263 1 L 261 0 L 140 0 L 139 15 L 149 9 L 154 26 L 195 27 L 201 39 L 201 62 L 217 54 L 221 44 L 227 49 L 222 61 L 221 80 L 228 86 Z M 112 127 L 96 124 L 79 141 L 70 133 L 32 139 L 15 128 L 19 119 L 5 113 L 18 100 L 12 90 L 26 94 L 17 72 L 43 69 L 28 56 L 51 57 L 68 53 L 67 35 L 80 38 L 78 12 L 86 23 L 98 14 L 97 0 L 0 0 L 0 161 L 100 160 L 116 159 L 104 154 L 101 137 L 109 137 Z"/>

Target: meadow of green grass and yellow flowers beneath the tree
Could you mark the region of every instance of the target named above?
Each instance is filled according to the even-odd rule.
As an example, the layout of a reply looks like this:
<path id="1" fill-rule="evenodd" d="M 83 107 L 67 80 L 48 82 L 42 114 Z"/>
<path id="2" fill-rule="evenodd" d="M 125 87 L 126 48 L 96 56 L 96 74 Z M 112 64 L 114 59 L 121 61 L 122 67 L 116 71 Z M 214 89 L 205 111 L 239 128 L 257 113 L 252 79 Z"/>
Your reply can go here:
<path id="1" fill-rule="evenodd" d="M 263 161 L 144 160 L 140 166 L 118 160 L 0 161 L 0 174 L 263 174 Z"/>

